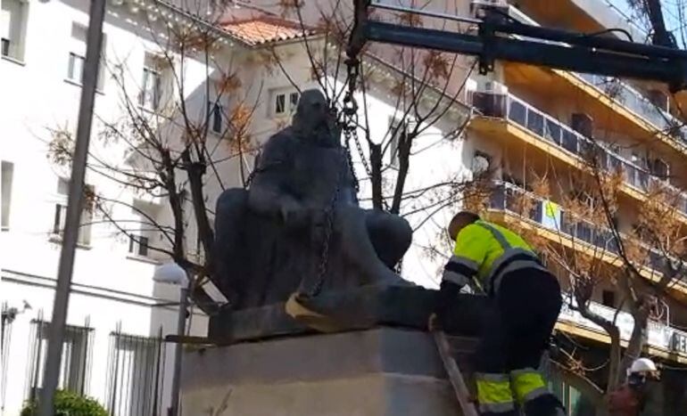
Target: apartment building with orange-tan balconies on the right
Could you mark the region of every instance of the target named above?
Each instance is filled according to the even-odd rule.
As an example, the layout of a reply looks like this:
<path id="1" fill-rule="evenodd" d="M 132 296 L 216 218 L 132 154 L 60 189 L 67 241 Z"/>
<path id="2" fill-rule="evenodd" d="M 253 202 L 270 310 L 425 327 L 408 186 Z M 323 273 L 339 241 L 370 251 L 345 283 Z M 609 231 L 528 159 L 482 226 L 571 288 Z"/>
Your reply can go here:
<path id="1" fill-rule="evenodd" d="M 476 0 L 473 4 L 474 10 L 498 6 L 512 19 L 529 25 L 587 33 L 621 28 L 632 33 L 635 41 L 647 37 L 618 9 L 600 0 Z M 610 232 L 599 225 L 598 218 L 575 219 L 573 207 L 564 203 L 575 192 L 584 192 L 584 177 L 591 175 L 586 162 L 593 148 L 599 155 L 598 169 L 620 175 L 618 232 L 633 230 L 640 221 L 642 205 L 650 203 L 651 190 L 659 185 L 674 195 L 666 218 L 675 216 L 680 235 L 684 235 L 687 129 L 665 86 L 501 62 L 492 74 L 477 78 L 471 102 L 477 115 L 470 123 L 470 133 L 484 138 L 476 147 L 480 157 L 491 161 L 499 181 L 487 209 L 492 220 L 519 224 L 541 238 L 543 245 L 559 248 L 568 257 L 594 258 L 601 263 L 599 270 L 615 270 L 612 268 L 621 263 Z M 546 195 L 533 189 L 542 178 L 548 184 Z M 663 257 L 656 249 L 647 249 L 646 257 L 641 274 L 656 281 Z M 558 272 L 563 290 L 571 290 L 568 271 L 559 268 Z M 673 298 L 684 299 L 686 289 L 683 281 L 677 281 L 670 290 Z M 609 321 L 614 320 L 616 309 L 621 309 L 617 326 L 621 338 L 629 339 L 633 318 L 623 311 L 626 306 L 621 298 L 617 283 L 602 279 L 594 287 L 590 308 Z M 571 303 L 574 301 L 568 297 L 557 328 L 583 345 L 603 349 L 608 337 L 575 312 Z M 666 300 L 658 309 L 650 320 L 644 354 L 666 360 L 667 366 L 684 363 L 687 333 L 678 329 L 687 318 L 684 308 Z M 557 388 L 574 412 L 579 392 L 566 386 Z"/>

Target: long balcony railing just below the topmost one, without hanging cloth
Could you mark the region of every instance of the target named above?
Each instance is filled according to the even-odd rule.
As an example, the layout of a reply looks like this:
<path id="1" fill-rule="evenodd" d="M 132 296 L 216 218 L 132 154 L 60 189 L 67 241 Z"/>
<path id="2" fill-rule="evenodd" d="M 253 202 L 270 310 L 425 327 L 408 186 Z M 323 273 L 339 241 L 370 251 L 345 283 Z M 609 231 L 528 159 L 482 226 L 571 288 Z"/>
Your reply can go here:
<path id="1" fill-rule="evenodd" d="M 687 196 L 678 191 L 671 184 L 650 173 L 633 162 L 623 158 L 613 151 L 603 148 L 589 138 L 576 132 L 572 127 L 561 123 L 556 118 L 535 109 L 532 105 L 520 100 L 512 94 L 473 93 L 473 105 L 484 116 L 506 118 L 518 126 L 526 128 L 540 140 L 553 143 L 562 150 L 574 156 L 587 160 L 592 151 L 600 155 L 601 167 L 616 172 L 618 169 L 625 178 L 625 183 L 641 192 L 650 191 L 651 186 L 660 184 L 668 186 L 679 199 L 675 201 L 675 208 L 687 214 Z"/>

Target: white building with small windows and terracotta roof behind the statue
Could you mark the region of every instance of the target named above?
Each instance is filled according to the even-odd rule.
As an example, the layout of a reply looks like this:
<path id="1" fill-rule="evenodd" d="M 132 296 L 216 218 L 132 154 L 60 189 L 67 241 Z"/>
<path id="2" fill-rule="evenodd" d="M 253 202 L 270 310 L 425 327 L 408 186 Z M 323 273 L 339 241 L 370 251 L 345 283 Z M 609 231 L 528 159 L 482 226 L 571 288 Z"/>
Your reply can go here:
<path id="1" fill-rule="evenodd" d="M 75 134 L 86 52 L 87 5 L 88 2 L 80 0 L 2 3 L 0 296 L 4 316 L 12 308 L 18 312 L 13 320 L 3 321 L 3 415 L 18 414 L 25 400 L 36 396 L 42 384 L 46 322 L 52 315 L 70 175 L 67 166 L 55 163 L 49 155 L 56 135 Z M 169 35 L 162 22 L 172 22 L 176 28 L 183 28 L 186 21 L 192 25 L 199 23 L 187 20 L 174 9 L 158 6 L 141 2 L 108 4 L 91 141 L 94 166 L 106 162 L 130 169 L 137 164 L 137 159 L 127 152 L 127 143 L 102 137 L 107 124 L 116 125 L 130 117 L 128 106 L 136 107 L 137 114 L 155 118 L 167 104 L 176 102 L 179 86 L 170 76 L 174 70 L 161 64 L 161 55 L 166 52 L 164 36 Z M 219 47 L 212 50 L 209 65 L 196 57 L 181 58 L 177 54 L 174 69 L 179 70 L 183 61 L 187 108 L 189 114 L 201 120 L 205 118 L 207 103 L 217 98 L 206 91 L 212 91 L 220 82 L 222 71 L 236 74 L 244 102 L 254 102 L 252 142 L 264 143 L 289 121 L 298 98 L 292 82 L 301 88 L 318 84 L 311 80 L 300 28 L 274 16 L 266 18 L 252 9 L 236 9 L 232 13 L 232 22 L 217 32 Z M 272 53 L 267 46 L 277 46 L 281 69 L 265 63 L 266 53 Z M 370 131 L 381 140 L 394 119 L 401 118 L 391 93 L 393 79 L 399 73 L 382 61 L 371 60 L 367 65 L 378 71 L 367 100 L 368 110 L 374 115 L 370 118 Z M 343 81 L 327 79 L 332 85 Z M 213 107 L 231 108 L 235 101 L 236 95 L 231 100 L 221 97 Z M 428 150 L 423 152 L 426 156 L 422 156 L 426 159 L 415 167 L 417 176 L 410 176 L 409 189 L 423 184 L 413 178 L 431 178 L 437 171 L 462 166 L 459 158 L 447 154 L 447 149 L 460 154 L 461 143 L 443 144 L 442 139 L 451 135 L 450 126 L 456 124 L 464 110 L 457 105 L 447 113 L 451 118 L 447 115 L 443 125 L 431 126 L 423 133 L 423 140 L 429 143 Z M 217 164 L 222 185 L 238 186 L 238 158 L 228 157 L 230 146 L 219 138 L 225 120 L 212 112 L 207 121 L 208 140 L 219 144 L 216 159 L 223 159 L 222 155 L 228 159 Z M 167 123 L 162 128 L 168 127 L 170 137 L 178 139 L 178 126 Z M 170 145 L 173 142 L 170 139 Z M 445 157 L 437 159 L 442 152 Z M 244 159 L 250 167 L 252 156 Z M 385 160 L 385 165 L 393 163 L 392 159 Z M 359 177 L 364 179 L 362 167 L 359 170 Z M 103 200 L 112 201 L 112 210 L 111 217 L 94 210 L 85 212 L 82 218 L 60 385 L 94 396 L 113 414 L 161 414 L 169 406 L 174 360 L 172 345 L 161 342 L 161 338 L 176 330 L 174 303 L 178 300 L 178 288 L 152 280 L 154 267 L 168 257 L 145 248 L 146 242 L 155 245 L 161 241 L 160 232 L 145 226 L 145 216 L 164 224 L 170 220 L 169 207 L 163 198 L 133 192 L 99 174 L 97 169 L 87 172 L 87 185 Z M 210 208 L 219 189 L 216 180 L 205 187 Z M 109 218 L 129 224 L 127 233 L 134 238 L 121 232 Z M 190 223 L 187 240 L 192 241 L 195 227 L 193 221 Z M 432 232 L 427 235 L 434 237 Z M 423 274 L 416 273 L 423 267 Z M 435 285 L 427 277 L 435 279 L 435 268 L 409 256 L 405 269 L 409 275 L 421 276 L 421 283 Z M 191 334 L 204 336 L 205 320 L 195 308 Z"/>

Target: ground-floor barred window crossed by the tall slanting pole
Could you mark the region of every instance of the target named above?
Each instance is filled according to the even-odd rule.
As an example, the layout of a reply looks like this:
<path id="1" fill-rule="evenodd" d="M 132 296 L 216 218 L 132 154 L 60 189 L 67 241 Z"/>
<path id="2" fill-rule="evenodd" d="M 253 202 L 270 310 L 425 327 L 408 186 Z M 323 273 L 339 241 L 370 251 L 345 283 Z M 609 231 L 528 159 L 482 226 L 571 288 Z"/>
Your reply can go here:
<path id="1" fill-rule="evenodd" d="M 43 386 L 49 325 L 49 322 L 43 321 L 34 321 L 32 325 L 30 397 L 37 397 Z M 70 390 L 79 395 L 87 393 L 87 376 L 90 366 L 88 348 L 92 344 L 92 334 L 92 329 L 87 327 L 66 326 L 58 388 Z"/>

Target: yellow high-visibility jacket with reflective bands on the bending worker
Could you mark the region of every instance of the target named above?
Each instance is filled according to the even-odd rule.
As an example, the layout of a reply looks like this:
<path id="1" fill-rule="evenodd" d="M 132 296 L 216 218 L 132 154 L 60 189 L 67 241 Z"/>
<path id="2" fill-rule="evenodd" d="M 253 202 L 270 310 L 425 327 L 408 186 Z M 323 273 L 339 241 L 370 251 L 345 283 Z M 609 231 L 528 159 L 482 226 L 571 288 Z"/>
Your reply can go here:
<path id="1" fill-rule="evenodd" d="M 476 276 L 484 290 L 493 294 L 504 274 L 522 268 L 546 270 L 517 233 L 480 220 L 460 230 L 453 256 L 444 267 L 443 280 L 462 287 Z"/>

